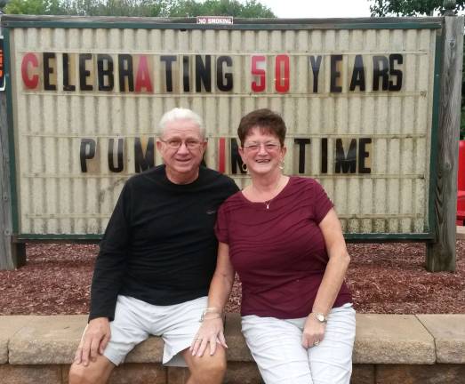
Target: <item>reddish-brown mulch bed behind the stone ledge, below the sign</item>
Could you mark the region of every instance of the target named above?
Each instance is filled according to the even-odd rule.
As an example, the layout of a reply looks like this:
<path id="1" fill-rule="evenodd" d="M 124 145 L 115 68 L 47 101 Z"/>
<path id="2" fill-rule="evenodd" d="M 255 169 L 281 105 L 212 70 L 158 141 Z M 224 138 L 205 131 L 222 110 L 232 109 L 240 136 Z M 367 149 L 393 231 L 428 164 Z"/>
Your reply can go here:
<path id="1" fill-rule="evenodd" d="M 429 273 L 425 244 L 349 244 L 347 282 L 359 313 L 465 313 L 465 241 L 456 271 Z M 0 315 L 86 314 L 98 246 L 28 244 L 27 265 L 0 271 Z M 239 310 L 240 283 L 226 308 Z"/>

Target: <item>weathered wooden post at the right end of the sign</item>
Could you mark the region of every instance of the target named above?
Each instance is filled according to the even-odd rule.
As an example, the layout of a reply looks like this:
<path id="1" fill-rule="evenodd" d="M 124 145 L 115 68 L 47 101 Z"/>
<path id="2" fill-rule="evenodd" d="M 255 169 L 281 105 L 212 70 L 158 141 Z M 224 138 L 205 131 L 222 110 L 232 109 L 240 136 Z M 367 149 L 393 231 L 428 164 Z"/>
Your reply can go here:
<path id="1" fill-rule="evenodd" d="M 426 268 L 431 272 L 455 270 L 462 45 L 463 18 L 445 16 L 434 196 L 437 242 L 427 244 L 426 255 Z"/>

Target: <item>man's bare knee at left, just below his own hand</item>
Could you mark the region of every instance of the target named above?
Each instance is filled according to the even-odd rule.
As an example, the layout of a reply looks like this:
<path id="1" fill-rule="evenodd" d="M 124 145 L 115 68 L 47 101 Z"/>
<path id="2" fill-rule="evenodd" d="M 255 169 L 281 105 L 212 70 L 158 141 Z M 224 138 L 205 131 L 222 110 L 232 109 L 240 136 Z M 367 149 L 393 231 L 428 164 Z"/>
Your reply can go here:
<path id="1" fill-rule="evenodd" d="M 115 364 L 102 355 L 87 366 L 73 363 L 69 368 L 69 384 L 105 384 L 113 368 Z"/>

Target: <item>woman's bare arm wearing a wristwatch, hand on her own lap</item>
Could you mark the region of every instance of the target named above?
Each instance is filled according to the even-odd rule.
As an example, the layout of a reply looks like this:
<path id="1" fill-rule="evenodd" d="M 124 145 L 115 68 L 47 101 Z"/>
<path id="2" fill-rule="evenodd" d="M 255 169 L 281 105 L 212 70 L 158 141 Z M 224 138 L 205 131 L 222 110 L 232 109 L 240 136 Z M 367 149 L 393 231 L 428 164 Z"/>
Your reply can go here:
<path id="1" fill-rule="evenodd" d="M 331 308 L 333 308 L 334 300 L 336 300 L 341 290 L 350 261 L 346 242 L 342 235 L 341 222 L 333 208 L 326 214 L 325 219 L 321 220 L 319 228 L 325 239 L 329 261 L 326 265 L 323 280 L 318 288 L 312 313 L 309 314 L 305 322 L 302 335 L 302 346 L 304 348 L 313 347 L 315 342 L 318 343 L 323 340 L 325 323 L 318 321 L 315 314 L 321 313 L 327 316 Z"/>

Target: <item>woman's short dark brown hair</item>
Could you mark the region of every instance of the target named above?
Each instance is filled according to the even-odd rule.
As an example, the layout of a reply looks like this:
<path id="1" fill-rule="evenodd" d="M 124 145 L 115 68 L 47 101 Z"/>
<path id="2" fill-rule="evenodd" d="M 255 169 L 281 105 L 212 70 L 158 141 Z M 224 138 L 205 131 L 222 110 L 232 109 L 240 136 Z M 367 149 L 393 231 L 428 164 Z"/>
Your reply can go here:
<path id="1" fill-rule="evenodd" d="M 262 132 L 276 135 L 279 143 L 282 146 L 285 145 L 285 121 L 276 112 L 268 108 L 262 108 L 245 115 L 237 128 L 237 136 L 241 140 L 241 146 L 244 146 L 245 138 L 254 127 L 260 127 Z"/>

